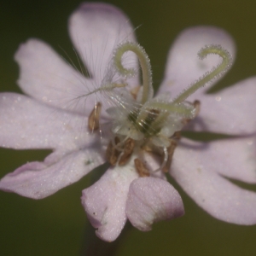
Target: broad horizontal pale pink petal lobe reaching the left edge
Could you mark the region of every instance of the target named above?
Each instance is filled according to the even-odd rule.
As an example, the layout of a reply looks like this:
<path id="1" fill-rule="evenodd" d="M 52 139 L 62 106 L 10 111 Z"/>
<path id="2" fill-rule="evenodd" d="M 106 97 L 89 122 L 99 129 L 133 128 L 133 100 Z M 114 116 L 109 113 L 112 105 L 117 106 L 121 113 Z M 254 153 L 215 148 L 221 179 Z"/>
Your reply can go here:
<path id="1" fill-rule="evenodd" d="M 3 148 L 83 148 L 95 139 L 87 119 L 51 108 L 27 96 L 0 94 L 0 145 Z"/>

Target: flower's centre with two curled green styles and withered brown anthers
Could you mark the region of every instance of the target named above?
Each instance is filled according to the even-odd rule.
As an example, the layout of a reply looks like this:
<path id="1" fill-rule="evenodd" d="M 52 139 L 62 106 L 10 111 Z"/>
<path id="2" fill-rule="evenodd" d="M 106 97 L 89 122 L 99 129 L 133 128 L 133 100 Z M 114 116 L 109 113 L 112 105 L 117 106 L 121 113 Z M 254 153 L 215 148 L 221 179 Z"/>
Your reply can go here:
<path id="1" fill-rule="evenodd" d="M 143 74 L 142 85 L 132 90 L 128 90 L 127 79 L 134 77 L 138 72 L 136 68 L 128 68 L 123 64 L 124 55 L 128 51 L 137 55 Z M 183 90 L 179 96 L 170 100 L 166 95 L 153 97 L 150 61 L 139 44 L 128 42 L 120 44 L 114 50 L 111 67 L 119 79 L 115 79 L 114 82 L 112 79 L 104 80 L 98 89 L 91 92 L 106 92 L 114 104 L 114 107 L 107 109 L 113 121 L 113 137 L 107 149 L 107 159 L 111 165 L 124 166 L 131 159 L 131 155 L 136 154 L 134 166 L 137 172 L 141 176 L 148 176 L 147 166 L 137 157 L 139 152 L 143 151 L 160 155 L 162 158 L 160 167 L 154 171 L 166 172 L 170 168 L 172 154 L 179 138 L 177 132 L 199 112 L 200 102 L 187 102 L 187 98 L 213 79 L 222 76 L 231 66 L 231 56 L 221 46 L 209 45 L 198 53 L 201 59 L 209 54 L 219 55 L 223 61 L 191 84 L 187 90 Z M 90 113 L 90 131 L 95 131 L 99 127 L 101 109 L 102 104 L 98 102 Z"/>

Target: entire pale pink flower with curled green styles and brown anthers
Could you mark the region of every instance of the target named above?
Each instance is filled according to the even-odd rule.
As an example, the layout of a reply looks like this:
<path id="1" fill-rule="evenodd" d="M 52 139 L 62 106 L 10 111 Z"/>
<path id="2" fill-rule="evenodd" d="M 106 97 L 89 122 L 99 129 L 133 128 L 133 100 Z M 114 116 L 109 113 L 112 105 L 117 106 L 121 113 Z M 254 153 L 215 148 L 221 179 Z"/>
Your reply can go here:
<path id="1" fill-rule="evenodd" d="M 224 58 L 224 66 L 230 65 L 223 50 L 234 55 L 230 36 L 214 27 L 183 32 L 170 51 L 164 82 L 153 97 L 148 57 L 119 9 L 84 3 L 71 16 L 69 29 L 90 79 L 37 39 L 22 44 L 15 55 L 20 65 L 18 84 L 27 96 L 0 95 L 0 144 L 15 149 L 51 148 L 53 153 L 44 162 L 27 163 L 7 174 L 0 189 L 44 198 L 108 160 L 112 166 L 82 195 L 90 222 L 103 240 L 119 236 L 127 218 L 138 229 L 150 230 L 155 221 L 183 214 L 181 197 L 166 182 L 163 170 L 214 217 L 255 224 L 255 193 L 221 175 L 256 181 L 255 160 L 250 157 L 255 152 L 256 79 L 213 96 L 195 91 L 212 81 L 216 74 L 211 73 L 190 86 L 192 91 L 182 92 L 218 64 L 216 56 L 196 59 L 206 44 L 212 46 L 201 49 L 201 56 L 215 50 Z M 140 87 L 137 57 L 143 71 Z M 221 73 L 224 68 L 220 67 L 215 71 Z M 166 93 L 169 90 L 172 97 Z M 74 99 L 76 104 L 69 108 Z M 199 113 L 195 100 L 201 102 Z M 190 131 L 247 137 L 198 143 L 178 137 L 176 131 L 184 125 Z"/>

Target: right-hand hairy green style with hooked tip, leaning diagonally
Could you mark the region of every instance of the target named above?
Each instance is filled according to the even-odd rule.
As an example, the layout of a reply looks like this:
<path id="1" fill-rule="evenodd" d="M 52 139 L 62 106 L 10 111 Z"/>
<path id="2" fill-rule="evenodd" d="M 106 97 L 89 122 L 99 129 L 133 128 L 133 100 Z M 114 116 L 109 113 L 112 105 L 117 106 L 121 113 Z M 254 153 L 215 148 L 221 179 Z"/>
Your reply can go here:
<path id="1" fill-rule="evenodd" d="M 208 45 L 204 48 L 202 48 L 198 56 L 201 60 L 205 59 L 207 55 L 219 55 L 222 58 L 222 62 L 218 64 L 217 67 L 213 67 L 211 72 L 205 73 L 205 75 L 196 81 L 194 84 L 189 86 L 187 90 L 184 90 L 183 93 L 173 101 L 173 103 L 180 103 L 186 100 L 191 94 L 195 92 L 195 90 L 200 89 L 201 87 L 205 86 L 209 82 L 212 81 L 212 79 L 216 79 L 218 77 L 221 77 L 226 73 L 232 64 L 232 57 L 230 53 L 226 50 L 223 49 L 220 45 Z"/>

